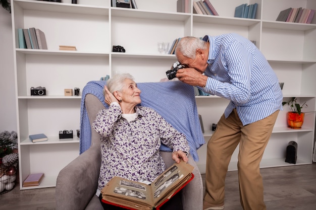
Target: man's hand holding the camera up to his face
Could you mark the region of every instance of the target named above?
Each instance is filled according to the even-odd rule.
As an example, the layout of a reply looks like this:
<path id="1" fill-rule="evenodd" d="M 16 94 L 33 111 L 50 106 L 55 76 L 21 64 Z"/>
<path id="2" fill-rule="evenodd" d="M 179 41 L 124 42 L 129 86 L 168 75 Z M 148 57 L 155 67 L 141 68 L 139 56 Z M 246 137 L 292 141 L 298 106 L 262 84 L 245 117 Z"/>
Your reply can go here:
<path id="1" fill-rule="evenodd" d="M 204 87 L 207 81 L 207 76 L 202 75 L 202 73 L 194 68 L 180 68 L 177 71 L 176 77 L 180 81 L 192 86 Z"/>

